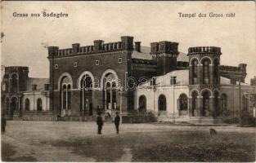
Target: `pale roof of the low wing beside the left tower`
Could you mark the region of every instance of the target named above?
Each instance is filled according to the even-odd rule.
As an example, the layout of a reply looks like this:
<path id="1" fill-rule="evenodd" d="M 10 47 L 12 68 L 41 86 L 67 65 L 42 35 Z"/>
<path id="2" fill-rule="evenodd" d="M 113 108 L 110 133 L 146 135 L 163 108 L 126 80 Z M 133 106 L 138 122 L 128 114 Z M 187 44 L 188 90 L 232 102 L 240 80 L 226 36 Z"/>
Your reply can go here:
<path id="1" fill-rule="evenodd" d="M 34 84 L 37 85 L 37 90 L 41 91 L 44 90 L 44 84 L 49 84 L 49 79 L 29 77 L 27 81 L 26 91 L 32 91 L 32 85 Z"/>

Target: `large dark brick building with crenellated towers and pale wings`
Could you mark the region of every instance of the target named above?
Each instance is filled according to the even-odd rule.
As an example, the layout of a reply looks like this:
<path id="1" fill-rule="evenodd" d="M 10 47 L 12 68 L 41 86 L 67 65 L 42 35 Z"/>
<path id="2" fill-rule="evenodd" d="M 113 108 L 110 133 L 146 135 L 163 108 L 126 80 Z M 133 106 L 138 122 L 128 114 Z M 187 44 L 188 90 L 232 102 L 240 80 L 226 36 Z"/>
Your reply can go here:
<path id="1" fill-rule="evenodd" d="M 93 43 L 75 43 L 67 49 L 49 46 L 49 81 L 28 77 L 26 67 L 7 67 L 2 81 L 6 114 L 12 117 L 18 110 L 25 117 L 26 110 L 37 110 L 36 100 L 41 99 L 45 107 L 38 112 L 49 110 L 61 117 L 91 117 L 97 111 L 113 117 L 119 111 L 153 114 L 159 121 L 193 122 L 223 114 L 253 115 L 255 104 L 250 101 L 256 86 L 245 84 L 246 64 L 221 65 L 219 47 L 190 47 L 186 55 L 178 51 L 177 42 L 146 47 L 125 36 L 120 42 Z M 10 102 L 13 97 L 18 109 Z"/>

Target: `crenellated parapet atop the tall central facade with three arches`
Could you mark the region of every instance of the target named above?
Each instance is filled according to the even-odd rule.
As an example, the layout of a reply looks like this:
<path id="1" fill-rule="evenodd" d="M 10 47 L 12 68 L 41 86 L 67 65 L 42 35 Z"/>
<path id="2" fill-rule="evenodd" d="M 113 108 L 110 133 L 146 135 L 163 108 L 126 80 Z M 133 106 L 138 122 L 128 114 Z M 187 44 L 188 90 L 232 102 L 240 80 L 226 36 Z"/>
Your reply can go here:
<path id="1" fill-rule="evenodd" d="M 111 51 L 133 51 L 133 37 L 123 36 L 121 42 L 104 43 L 103 40 L 95 40 L 92 46 L 80 46 L 72 44 L 72 48 L 59 49 L 58 46 L 48 47 L 48 58 L 61 58 L 73 55 L 89 55 Z"/>

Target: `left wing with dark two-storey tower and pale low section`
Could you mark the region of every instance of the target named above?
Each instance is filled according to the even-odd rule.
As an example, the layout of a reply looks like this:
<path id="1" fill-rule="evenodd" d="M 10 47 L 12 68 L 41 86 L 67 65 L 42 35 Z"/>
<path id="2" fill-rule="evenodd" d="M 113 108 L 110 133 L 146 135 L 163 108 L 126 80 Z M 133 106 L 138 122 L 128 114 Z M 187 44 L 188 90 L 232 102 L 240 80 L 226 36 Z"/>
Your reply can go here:
<path id="1" fill-rule="evenodd" d="M 29 68 L 4 68 L 2 104 L 8 118 L 20 118 L 49 111 L 49 79 L 29 77 Z"/>

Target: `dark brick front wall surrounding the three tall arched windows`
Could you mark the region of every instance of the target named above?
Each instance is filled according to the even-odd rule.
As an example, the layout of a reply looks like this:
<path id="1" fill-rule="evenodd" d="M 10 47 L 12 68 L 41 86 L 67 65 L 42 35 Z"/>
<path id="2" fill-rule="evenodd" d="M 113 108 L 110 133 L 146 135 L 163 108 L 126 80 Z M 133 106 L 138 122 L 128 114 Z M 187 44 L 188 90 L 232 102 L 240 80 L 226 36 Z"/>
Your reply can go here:
<path id="1" fill-rule="evenodd" d="M 80 90 L 78 88 L 78 81 L 81 74 L 85 71 L 92 73 L 95 81 L 97 82 L 95 87 L 101 88 L 101 77 L 107 70 L 114 71 L 119 80 L 121 86 L 125 84 L 125 78 L 130 75 L 131 72 L 131 52 L 132 51 L 115 51 L 106 52 L 92 55 L 79 55 L 72 57 L 64 57 L 54 59 L 54 64 L 58 64 L 58 68 L 53 67 L 53 88 L 54 95 L 52 98 L 53 109 L 56 113 L 61 109 L 61 97 L 60 97 L 60 82 L 63 74 L 68 73 L 73 81 L 73 88 L 71 88 L 71 113 L 73 115 L 79 115 L 80 112 Z M 122 63 L 119 63 L 119 58 L 122 59 Z M 100 65 L 95 65 L 95 60 L 99 60 Z M 74 63 L 78 66 L 74 68 Z M 52 67 L 51 67 L 52 68 Z M 125 87 L 125 86 L 124 86 Z M 128 105 L 128 92 L 124 91 L 124 98 L 122 98 L 122 108 L 125 111 L 133 109 L 133 106 Z M 92 108 L 95 111 L 97 107 L 103 108 L 103 94 L 102 90 L 93 90 L 92 92 Z M 119 106 L 119 95 L 117 95 L 117 105 Z M 133 99 L 133 98 L 132 98 Z M 51 106 L 52 108 L 52 106 Z"/>

